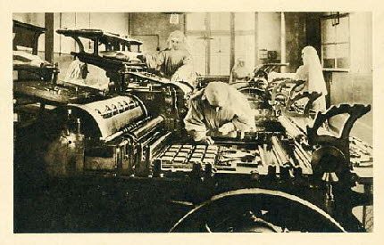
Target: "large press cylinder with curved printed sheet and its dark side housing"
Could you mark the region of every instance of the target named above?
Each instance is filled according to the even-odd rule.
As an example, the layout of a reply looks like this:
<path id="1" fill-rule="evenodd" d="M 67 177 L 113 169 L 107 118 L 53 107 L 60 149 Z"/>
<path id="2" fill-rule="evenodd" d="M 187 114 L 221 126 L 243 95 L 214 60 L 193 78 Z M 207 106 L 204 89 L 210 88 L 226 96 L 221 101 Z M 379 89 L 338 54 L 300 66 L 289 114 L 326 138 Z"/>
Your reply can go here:
<path id="1" fill-rule="evenodd" d="M 146 106 L 134 95 L 70 104 L 65 109 L 61 109 L 66 114 L 63 134 L 47 153 L 51 176 L 133 175 L 146 155 L 146 145 L 163 135 L 163 117 L 148 116 Z M 65 157 L 57 160 L 53 154 Z"/>

